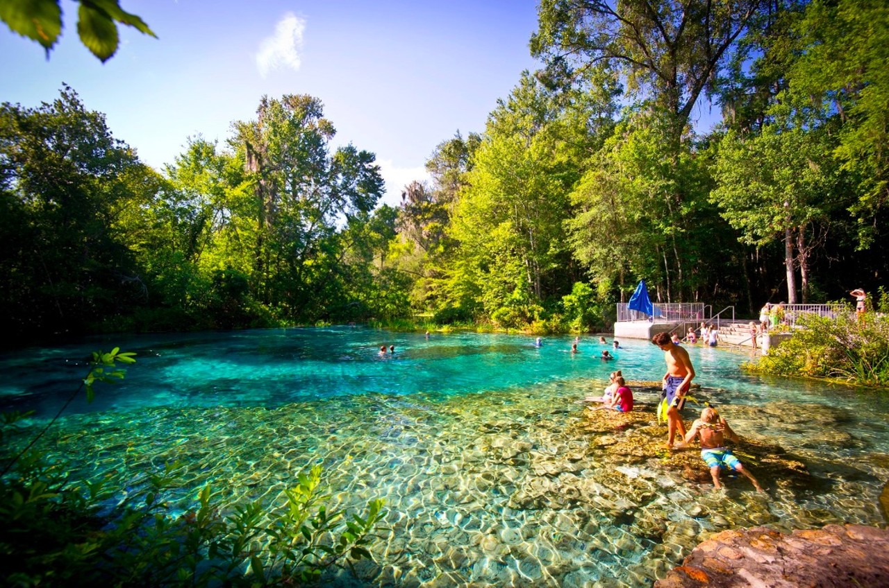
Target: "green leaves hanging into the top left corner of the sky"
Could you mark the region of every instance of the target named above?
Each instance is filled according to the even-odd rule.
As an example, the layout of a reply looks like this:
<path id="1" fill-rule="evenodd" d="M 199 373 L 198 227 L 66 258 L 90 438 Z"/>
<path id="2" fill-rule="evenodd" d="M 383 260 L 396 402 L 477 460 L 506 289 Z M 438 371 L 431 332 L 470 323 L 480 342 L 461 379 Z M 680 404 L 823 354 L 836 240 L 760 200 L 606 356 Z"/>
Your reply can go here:
<path id="1" fill-rule="evenodd" d="M 111 58 L 120 44 L 116 23 L 135 28 L 143 35 L 157 36 L 139 16 L 124 11 L 117 0 L 76 0 L 77 35 L 93 55 L 103 63 Z M 21 36 L 43 45 L 46 57 L 61 35 L 59 0 L 4 0 L 0 3 L 0 20 Z"/>

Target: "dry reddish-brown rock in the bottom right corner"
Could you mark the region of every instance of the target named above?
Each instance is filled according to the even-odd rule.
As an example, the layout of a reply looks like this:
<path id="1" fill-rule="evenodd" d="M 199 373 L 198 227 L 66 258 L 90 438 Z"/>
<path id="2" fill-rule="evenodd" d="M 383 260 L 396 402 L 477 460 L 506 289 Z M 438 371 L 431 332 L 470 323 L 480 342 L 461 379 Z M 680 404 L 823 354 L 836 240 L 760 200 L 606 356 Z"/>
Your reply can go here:
<path id="1" fill-rule="evenodd" d="M 655 588 L 889 585 L 889 530 L 828 525 L 786 535 L 770 528 L 717 533 Z"/>

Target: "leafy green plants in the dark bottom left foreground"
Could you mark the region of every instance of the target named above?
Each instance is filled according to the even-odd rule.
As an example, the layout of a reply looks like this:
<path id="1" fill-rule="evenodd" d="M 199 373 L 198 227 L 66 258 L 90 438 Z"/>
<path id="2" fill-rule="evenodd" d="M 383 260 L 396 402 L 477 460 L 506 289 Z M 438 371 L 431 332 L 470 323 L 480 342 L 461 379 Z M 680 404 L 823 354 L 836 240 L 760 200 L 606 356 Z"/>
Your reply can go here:
<path id="1" fill-rule="evenodd" d="M 92 386 L 122 379 L 116 362 L 132 363 L 132 355 L 92 354 L 75 395 L 85 389 L 92 401 Z M 371 500 L 363 516 L 330 508 L 320 465 L 284 490 L 283 505 L 226 504 L 207 485 L 185 513 L 172 513 L 169 499 L 182 484 L 180 463 L 125 491 L 110 488 L 108 477 L 77 480 L 34 449 L 73 398 L 30 440 L 21 422 L 32 413 L 3 416 L 0 455 L 12 457 L 0 477 L 0 584 L 299 585 L 342 562 L 372 560 L 384 502 Z"/>

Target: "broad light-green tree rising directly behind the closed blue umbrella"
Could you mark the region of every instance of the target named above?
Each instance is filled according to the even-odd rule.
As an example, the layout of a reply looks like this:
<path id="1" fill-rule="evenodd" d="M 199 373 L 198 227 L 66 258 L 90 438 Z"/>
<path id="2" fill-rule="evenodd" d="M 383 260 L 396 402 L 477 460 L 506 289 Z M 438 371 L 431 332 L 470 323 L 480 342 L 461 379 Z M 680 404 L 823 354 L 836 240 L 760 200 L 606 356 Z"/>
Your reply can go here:
<path id="1" fill-rule="evenodd" d="M 572 193 L 577 212 L 567 226 L 575 255 L 621 297 L 646 278 L 669 302 L 671 292 L 696 291 L 709 277 L 701 271 L 706 161 L 690 141 L 675 161 L 664 158 L 671 140 L 669 123 L 646 109 L 628 111 Z"/>

